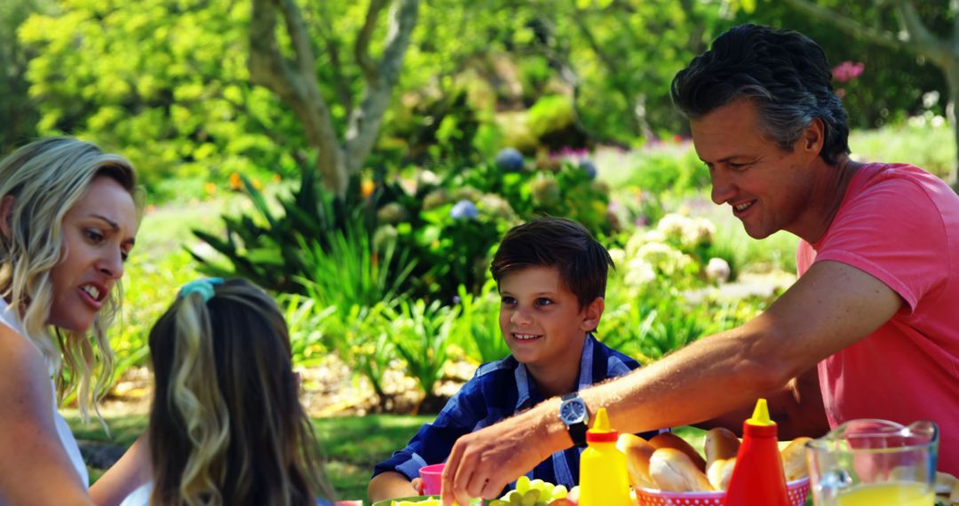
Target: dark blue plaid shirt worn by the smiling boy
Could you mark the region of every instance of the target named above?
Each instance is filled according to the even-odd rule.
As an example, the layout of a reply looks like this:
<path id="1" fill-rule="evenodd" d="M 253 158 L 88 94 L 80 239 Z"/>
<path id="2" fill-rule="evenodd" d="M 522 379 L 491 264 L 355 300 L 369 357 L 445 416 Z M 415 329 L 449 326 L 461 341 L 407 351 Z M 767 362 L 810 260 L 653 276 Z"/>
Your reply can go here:
<path id="1" fill-rule="evenodd" d="M 579 361 L 577 390 L 600 381 L 625 375 L 639 367 L 636 360 L 602 344 L 587 334 Z M 410 480 L 419 476 L 423 466 L 446 461 L 459 436 L 492 426 L 520 411 L 546 401 L 537 391 L 526 366 L 512 356 L 479 366 L 473 379 L 466 382 L 439 412 L 433 424 L 424 424 L 407 448 L 393 453 L 376 465 L 373 475 L 394 471 Z M 664 430 L 640 434 L 650 438 Z M 579 454 L 576 447 L 553 453 L 531 472 L 540 478 L 572 488 L 579 482 Z M 512 484 L 509 488 L 512 488 Z"/>

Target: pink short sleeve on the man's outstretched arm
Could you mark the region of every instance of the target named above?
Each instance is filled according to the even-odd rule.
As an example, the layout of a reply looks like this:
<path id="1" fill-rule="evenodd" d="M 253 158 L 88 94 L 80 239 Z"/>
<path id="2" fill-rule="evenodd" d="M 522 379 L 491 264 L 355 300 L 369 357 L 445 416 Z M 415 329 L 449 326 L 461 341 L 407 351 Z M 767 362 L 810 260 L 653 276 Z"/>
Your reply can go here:
<path id="1" fill-rule="evenodd" d="M 847 202 L 815 262 L 852 265 L 899 293 L 910 312 L 946 271 L 947 238 L 936 205 L 918 184 L 889 178 Z"/>

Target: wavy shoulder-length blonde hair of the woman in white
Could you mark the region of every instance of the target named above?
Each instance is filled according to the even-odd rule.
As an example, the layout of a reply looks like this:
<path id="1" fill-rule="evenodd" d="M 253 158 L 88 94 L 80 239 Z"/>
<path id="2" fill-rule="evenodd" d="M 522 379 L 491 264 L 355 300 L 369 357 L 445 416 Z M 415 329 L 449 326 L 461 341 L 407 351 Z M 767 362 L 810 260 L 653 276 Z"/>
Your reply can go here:
<path id="1" fill-rule="evenodd" d="M 98 176 L 115 180 L 139 203 L 130 163 L 87 142 L 43 139 L 0 161 L 0 198 L 13 197 L 11 233 L 0 234 L 0 296 L 10 302 L 26 337 L 46 358 L 57 379 L 58 399 L 78 393 L 84 420 L 91 405 L 97 409 L 112 380 L 113 354 L 105 331 L 120 308 L 122 288 L 117 284 L 110 292 L 94 319 L 92 335 L 52 328 L 47 322 L 54 298 L 51 272 L 66 253 L 63 217 Z"/>

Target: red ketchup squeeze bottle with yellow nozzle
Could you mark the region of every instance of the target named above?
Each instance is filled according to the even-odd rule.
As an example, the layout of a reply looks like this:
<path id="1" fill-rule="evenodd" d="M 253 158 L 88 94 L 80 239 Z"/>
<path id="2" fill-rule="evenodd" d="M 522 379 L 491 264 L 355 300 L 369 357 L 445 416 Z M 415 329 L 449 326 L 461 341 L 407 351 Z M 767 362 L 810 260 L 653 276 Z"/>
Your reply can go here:
<path id="1" fill-rule="evenodd" d="M 724 506 L 789 506 L 777 432 L 766 400 L 760 399 L 753 417 L 742 425 L 742 445 Z"/>

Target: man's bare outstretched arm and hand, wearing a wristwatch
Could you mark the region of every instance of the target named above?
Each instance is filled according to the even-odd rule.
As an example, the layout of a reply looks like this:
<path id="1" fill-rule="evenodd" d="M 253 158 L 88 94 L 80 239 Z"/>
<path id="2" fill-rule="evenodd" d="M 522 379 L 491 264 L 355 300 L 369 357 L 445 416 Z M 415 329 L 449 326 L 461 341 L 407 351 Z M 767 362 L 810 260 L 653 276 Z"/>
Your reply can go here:
<path id="1" fill-rule="evenodd" d="M 784 388 L 820 360 L 874 332 L 901 298 L 850 265 L 821 262 L 760 316 L 702 338 L 619 380 L 580 392 L 620 432 L 699 423 Z M 821 404 L 821 400 L 819 401 Z M 443 504 L 491 498 L 573 442 L 558 399 L 461 437 L 443 472 Z"/>

